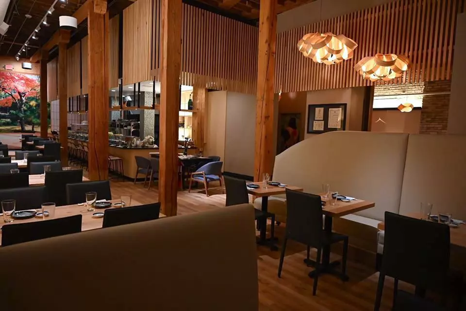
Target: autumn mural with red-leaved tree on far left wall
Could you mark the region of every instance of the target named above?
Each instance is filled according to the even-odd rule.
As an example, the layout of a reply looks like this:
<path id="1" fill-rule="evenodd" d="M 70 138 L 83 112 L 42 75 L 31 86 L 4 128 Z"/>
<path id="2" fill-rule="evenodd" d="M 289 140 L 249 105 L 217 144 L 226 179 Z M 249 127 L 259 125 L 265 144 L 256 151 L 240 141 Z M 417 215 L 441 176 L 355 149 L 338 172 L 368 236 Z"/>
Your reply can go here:
<path id="1" fill-rule="evenodd" d="M 0 132 L 34 132 L 39 112 L 39 76 L 0 71 Z"/>

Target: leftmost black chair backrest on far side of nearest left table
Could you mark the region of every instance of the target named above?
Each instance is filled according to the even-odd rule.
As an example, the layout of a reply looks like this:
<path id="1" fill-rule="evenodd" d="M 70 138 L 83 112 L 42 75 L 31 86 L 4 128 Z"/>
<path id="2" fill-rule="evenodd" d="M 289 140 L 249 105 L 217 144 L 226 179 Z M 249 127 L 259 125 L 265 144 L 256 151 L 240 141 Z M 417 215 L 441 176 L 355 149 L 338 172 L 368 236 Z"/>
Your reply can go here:
<path id="1" fill-rule="evenodd" d="M 0 190 L 0 201 L 16 200 L 15 210 L 40 208 L 47 200 L 45 187 L 25 187 Z"/>

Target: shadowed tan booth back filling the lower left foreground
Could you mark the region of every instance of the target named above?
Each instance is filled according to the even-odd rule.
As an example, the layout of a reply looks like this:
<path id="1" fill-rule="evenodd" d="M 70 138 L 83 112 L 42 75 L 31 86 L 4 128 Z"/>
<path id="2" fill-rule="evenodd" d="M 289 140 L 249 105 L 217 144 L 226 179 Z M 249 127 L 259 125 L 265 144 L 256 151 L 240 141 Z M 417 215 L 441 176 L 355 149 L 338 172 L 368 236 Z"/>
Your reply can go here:
<path id="1" fill-rule="evenodd" d="M 251 205 L 0 249 L 2 310 L 258 310 Z"/>

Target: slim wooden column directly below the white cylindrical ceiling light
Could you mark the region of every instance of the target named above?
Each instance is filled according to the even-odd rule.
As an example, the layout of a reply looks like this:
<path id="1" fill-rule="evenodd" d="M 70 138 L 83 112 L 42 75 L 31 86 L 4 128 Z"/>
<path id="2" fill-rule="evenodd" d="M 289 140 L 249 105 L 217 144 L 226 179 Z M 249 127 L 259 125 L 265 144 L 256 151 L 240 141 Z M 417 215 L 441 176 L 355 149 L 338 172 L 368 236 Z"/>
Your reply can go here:
<path id="1" fill-rule="evenodd" d="M 69 30 L 60 29 L 60 41 L 58 43 L 58 100 L 60 109 L 60 143 L 62 165 L 68 165 L 68 69 L 67 69 L 67 44 L 69 42 Z"/>

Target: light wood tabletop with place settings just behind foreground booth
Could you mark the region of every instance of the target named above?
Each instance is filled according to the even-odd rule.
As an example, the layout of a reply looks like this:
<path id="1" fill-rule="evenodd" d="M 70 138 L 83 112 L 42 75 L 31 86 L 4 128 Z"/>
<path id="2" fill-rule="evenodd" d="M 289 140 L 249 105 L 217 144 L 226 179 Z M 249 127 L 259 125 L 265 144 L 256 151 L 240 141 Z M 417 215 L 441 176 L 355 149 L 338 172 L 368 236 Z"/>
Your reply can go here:
<path id="1" fill-rule="evenodd" d="M 116 203 L 116 202 L 120 202 L 120 200 L 111 200 L 111 202 Z M 138 206 L 138 205 L 142 205 L 142 204 L 137 201 L 131 200 L 131 206 Z M 108 207 L 108 208 L 114 208 L 114 207 Z M 93 218 L 92 214 L 96 212 L 103 212 L 105 209 L 107 208 L 99 208 L 99 209 L 96 208 L 95 211 L 89 212 L 87 211 L 85 206 L 79 206 L 79 205 L 61 206 L 61 207 L 56 207 L 55 218 L 63 218 L 63 217 L 81 214 L 83 215 L 83 224 L 81 225 L 82 231 L 99 229 L 102 227 L 103 218 Z M 37 209 L 37 211 L 40 211 L 40 209 Z M 0 216 L 0 217 L 3 217 L 3 216 Z M 162 218 L 166 216 L 160 213 L 159 217 Z M 24 219 L 24 220 L 15 219 L 10 224 L 31 223 L 31 222 L 37 222 L 37 221 L 42 221 L 42 218 L 33 217 L 29 219 Z M 5 225 L 5 223 L 3 223 L 3 219 L 1 219 L 0 227 L 1 225 Z M 1 243 L 1 230 L 0 230 L 0 243 Z"/>

